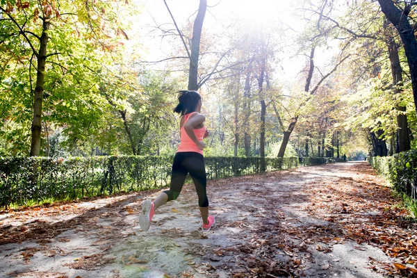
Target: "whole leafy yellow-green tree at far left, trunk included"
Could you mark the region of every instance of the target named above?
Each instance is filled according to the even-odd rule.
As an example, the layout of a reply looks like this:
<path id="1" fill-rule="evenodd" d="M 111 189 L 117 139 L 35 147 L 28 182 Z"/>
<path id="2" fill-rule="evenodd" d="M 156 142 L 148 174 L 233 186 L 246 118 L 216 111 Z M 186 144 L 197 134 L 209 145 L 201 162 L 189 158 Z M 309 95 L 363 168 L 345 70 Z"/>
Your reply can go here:
<path id="1" fill-rule="evenodd" d="M 120 24 L 108 23 L 116 18 L 112 9 L 113 2 L 102 1 L 1 1 L 1 22 L 5 27 L 0 32 L 1 43 L 10 57 L 6 66 L 19 61 L 17 70 L 24 74 L 17 76 L 10 71 L 10 75 L 1 76 L 1 82 L 10 92 L 19 88 L 19 95 L 25 99 L 21 104 L 31 106 L 31 156 L 40 155 L 42 126 L 47 127 L 44 117 L 58 123 L 68 115 L 66 120 L 75 123 L 74 111 L 83 118 L 82 108 L 98 104 L 98 99 L 91 95 L 98 93 L 94 72 L 103 62 L 97 50 L 115 49 L 117 42 L 109 35 L 127 38 Z M 26 80 L 19 80 L 23 77 Z M 16 88 L 16 83 L 21 85 Z M 26 91 L 25 95 L 25 90 L 30 94 Z M 77 106 L 77 102 L 82 105 Z M 91 108 L 85 112 L 97 117 L 97 110 Z M 24 117 L 21 115 L 20 119 Z"/>

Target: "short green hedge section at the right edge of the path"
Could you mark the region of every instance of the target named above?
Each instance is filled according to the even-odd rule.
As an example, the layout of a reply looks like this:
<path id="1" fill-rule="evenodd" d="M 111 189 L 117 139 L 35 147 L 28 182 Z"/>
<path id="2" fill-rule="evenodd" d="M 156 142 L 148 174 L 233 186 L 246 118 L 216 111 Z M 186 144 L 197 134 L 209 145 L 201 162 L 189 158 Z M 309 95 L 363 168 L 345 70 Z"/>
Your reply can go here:
<path id="1" fill-rule="evenodd" d="M 368 162 L 398 193 L 417 199 L 417 150 L 412 149 L 393 156 L 375 156 L 369 158 Z"/>

